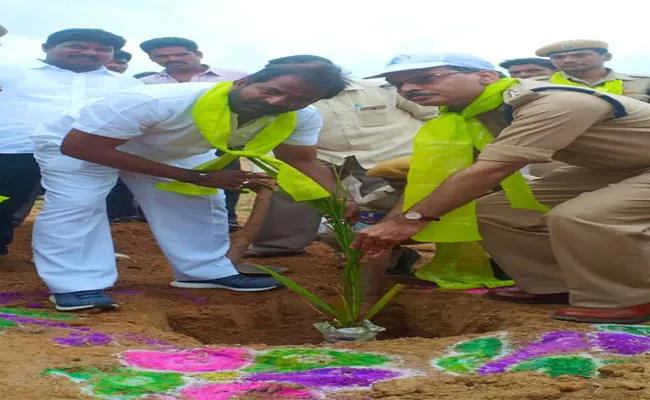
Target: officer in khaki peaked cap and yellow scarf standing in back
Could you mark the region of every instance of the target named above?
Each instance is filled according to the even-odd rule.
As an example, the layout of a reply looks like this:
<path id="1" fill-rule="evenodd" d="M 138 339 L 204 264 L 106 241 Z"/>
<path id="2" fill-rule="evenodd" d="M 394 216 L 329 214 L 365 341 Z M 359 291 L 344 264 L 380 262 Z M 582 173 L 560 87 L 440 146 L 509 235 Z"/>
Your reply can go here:
<path id="1" fill-rule="evenodd" d="M 540 80 L 586 87 L 645 102 L 650 100 L 650 77 L 621 74 L 605 67 L 605 63 L 612 59 L 606 42 L 565 40 L 544 46 L 535 54 L 539 57 L 549 57 L 559 70 Z"/>

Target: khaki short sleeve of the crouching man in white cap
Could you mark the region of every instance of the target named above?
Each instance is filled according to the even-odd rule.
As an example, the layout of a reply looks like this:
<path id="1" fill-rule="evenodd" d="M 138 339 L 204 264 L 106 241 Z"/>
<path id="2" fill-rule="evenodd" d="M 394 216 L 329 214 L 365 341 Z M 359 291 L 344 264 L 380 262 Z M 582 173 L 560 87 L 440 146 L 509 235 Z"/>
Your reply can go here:
<path id="1" fill-rule="evenodd" d="M 516 107 L 513 121 L 485 146 L 484 161 L 544 163 L 590 126 L 611 118 L 613 107 L 595 95 L 553 92 Z"/>

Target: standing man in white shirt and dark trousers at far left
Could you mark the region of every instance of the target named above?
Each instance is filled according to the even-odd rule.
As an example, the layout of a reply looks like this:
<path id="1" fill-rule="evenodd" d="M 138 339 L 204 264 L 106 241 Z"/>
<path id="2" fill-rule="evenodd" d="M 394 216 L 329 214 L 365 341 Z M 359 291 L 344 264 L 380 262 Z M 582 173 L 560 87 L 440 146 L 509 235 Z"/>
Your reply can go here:
<path id="1" fill-rule="evenodd" d="M 0 255 L 13 238 L 12 214 L 30 200 L 40 179 L 30 135 L 63 112 L 129 87 L 137 79 L 104 65 L 124 38 L 101 29 L 66 29 L 48 36 L 43 60 L 0 66 Z"/>

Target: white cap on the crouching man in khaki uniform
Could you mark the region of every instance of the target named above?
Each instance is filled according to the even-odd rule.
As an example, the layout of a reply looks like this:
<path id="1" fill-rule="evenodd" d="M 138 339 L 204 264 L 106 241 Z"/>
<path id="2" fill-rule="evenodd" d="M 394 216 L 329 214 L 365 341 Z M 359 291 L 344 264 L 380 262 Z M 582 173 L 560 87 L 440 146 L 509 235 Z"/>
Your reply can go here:
<path id="1" fill-rule="evenodd" d="M 390 60 L 384 71 L 365 79 L 381 78 L 393 72 L 411 71 L 435 67 L 465 67 L 481 70 L 496 70 L 490 62 L 466 53 L 412 53 L 400 54 Z"/>

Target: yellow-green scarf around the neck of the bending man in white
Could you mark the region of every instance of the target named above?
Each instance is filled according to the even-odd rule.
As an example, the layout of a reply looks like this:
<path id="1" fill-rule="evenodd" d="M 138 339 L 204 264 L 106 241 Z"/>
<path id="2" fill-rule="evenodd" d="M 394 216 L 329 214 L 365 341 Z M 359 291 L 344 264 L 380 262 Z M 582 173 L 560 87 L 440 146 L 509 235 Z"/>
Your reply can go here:
<path id="1" fill-rule="evenodd" d="M 222 82 L 203 94 L 195 103 L 192 117 L 205 139 L 225 154 L 215 160 L 201 164 L 198 171 L 218 171 L 239 157 L 259 159 L 278 169 L 278 185 L 296 201 L 315 200 L 328 197 L 330 193 L 307 175 L 290 165 L 266 154 L 284 142 L 296 126 L 296 112 L 278 115 L 266 125 L 243 150 L 228 148 L 228 139 L 232 134 L 230 126 L 231 111 L 228 106 L 228 93 L 232 82 Z M 159 189 L 187 195 L 213 195 L 217 189 L 197 186 L 191 183 L 159 183 Z"/>

